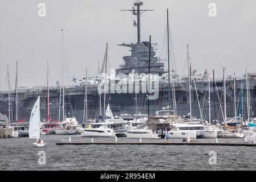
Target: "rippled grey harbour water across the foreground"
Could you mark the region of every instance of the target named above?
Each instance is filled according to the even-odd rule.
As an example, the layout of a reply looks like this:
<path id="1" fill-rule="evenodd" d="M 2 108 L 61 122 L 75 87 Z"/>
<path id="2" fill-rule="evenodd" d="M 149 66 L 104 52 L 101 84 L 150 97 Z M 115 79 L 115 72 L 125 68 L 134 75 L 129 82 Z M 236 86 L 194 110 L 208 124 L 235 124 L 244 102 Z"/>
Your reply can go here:
<path id="1" fill-rule="evenodd" d="M 255 170 L 256 147 L 155 146 L 155 145 L 66 145 L 56 142 L 90 141 L 80 135 L 43 135 L 46 147 L 34 147 L 29 138 L 0 139 L 0 170 Z M 115 138 L 94 138 L 94 141 Z M 139 139 L 118 138 L 119 141 Z M 163 139 L 142 139 L 163 140 Z M 243 139 L 218 139 L 219 142 Z M 178 140 L 180 141 L 180 139 Z M 199 142 L 215 139 L 200 139 Z M 38 164 L 39 151 L 46 164 Z M 217 164 L 209 164 L 209 151 L 217 153 Z"/>

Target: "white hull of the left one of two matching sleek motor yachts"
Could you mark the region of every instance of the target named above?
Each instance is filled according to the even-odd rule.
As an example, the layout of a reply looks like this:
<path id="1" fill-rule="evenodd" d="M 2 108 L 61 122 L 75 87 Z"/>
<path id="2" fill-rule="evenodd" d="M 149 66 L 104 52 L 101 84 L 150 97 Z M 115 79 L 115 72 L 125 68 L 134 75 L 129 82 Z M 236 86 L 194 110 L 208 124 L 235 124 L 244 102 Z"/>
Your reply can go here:
<path id="1" fill-rule="evenodd" d="M 81 129 L 81 137 L 114 137 L 112 130 L 105 129 Z"/>

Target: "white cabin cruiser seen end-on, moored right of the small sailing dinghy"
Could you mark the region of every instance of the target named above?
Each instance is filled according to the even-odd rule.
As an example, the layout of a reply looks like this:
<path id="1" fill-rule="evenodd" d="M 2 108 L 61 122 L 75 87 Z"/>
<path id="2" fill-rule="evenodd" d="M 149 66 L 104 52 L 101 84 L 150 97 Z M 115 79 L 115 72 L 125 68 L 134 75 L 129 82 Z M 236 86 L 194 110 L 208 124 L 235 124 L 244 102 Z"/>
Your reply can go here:
<path id="1" fill-rule="evenodd" d="M 76 121 L 76 118 L 65 118 L 55 129 L 56 135 L 76 135 L 81 132 L 80 125 Z"/>

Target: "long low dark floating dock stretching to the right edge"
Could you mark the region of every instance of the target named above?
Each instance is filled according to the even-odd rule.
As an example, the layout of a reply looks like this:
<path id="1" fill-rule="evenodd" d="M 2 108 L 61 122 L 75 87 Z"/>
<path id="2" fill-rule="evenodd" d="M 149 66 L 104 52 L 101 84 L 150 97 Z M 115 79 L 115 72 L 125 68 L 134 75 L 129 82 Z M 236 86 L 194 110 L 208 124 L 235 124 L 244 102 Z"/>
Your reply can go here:
<path id="1" fill-rule="evenodd" d="M 174 145 L 174 146 L 246 146 L 256 147 L 254 143 L 230 143 L 230 142 L 57 142 L 56 145 L 88 145 L 88 144 L 108 144 L 108 145 Z"/>

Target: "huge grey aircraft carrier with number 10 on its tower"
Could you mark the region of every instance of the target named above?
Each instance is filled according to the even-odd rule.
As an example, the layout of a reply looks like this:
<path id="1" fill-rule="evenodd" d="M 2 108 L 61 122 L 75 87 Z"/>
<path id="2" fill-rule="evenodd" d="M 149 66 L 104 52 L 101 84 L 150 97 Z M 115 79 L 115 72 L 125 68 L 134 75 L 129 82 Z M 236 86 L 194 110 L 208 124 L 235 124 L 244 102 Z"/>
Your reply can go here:
<path id="1" fill-rule="evenodd" d="M 123 56 L 123 64 L 119 65 L 119 68 L 115 69 L 116 73 L 123 73 L 128 75 L 131 72 L 138 73 L 139 75 L 148 73 L 148 55 L 151 49 L 151 63 L 150 73 L 158 73 L 159 75 L 159 97 L 156 100 L 150 101 L 150 114 L 155 115 L 156 110 L 162 110 L 163 107 L 169 106 L 168 101 L 168 76 L 164 70 L 163 60 L 160 60 L 154 52 L 154 44 L 150 44 L 147 41 L 141 41 L 141 19 L 140 16 L 144 11 L 141 6 L 142 2 L 135 2 L 131 13 L 137 16 L 137 22 L 134 22 L 134 26 L 138 30 L 138 40 L 136 43 L 131 44 L 119 44 L 119 46 L 125 46 L 130 48 L 131 54 Z M 209 87 L 208 87 L 208 75 L 212 75 L 212 71 L 205 70 L 204 73 L 199 75 L 193 74 L 192 86 L 191 86 L 191 104 L 192 115 L 204 119 L 209 119 Z M 236 95 L 236 106 L 242 108 L 242 113 L 247 111 L 246 98 L 249 97 L 249 109 L 250 117 L 255 117 L 254 111 L 256 109 L 255 96 L 256 96 L 256 79 L 255 74 L 248 74 L 249 82 L 249 94 L 247 96 L 246 90 L 246 77 L 226 76 L 226 115 L 233 117 L 235 115 L 234 109 L 234 96 Z M 172 84 L 173 82 L 173 84 Z M 172 72 L 171 84 L 172 91 L 175 90 L 175 97 L 172 94 L 171 108 L 174 109 L 173 103 L 176 102 L 176 112 L 178 115 L 187 115 L 189 113 L 189 88 L 188 88 L 188 76 L 178 76 Z M 236 84 L 236 85 L 234 85 Z M 99 101 L 98 101 L 98 77 L 88 78 L 87 81 L 87 101 L 88 101 L 88 118 L 98 117 L 99 113 Z M 234 89 L 236 86 L 236 89 Z M 59 105 L 60 105 L 60 85 L 49 88 L 49 114 L 51 121 L 59 119 Z M 78 121 L 83 122 L 84 115 L 84 101 L 85 101 L 85 82 L 82 81 L 79 84 L 65 85 L 65 115 L 75 115 Z M 222 120 L 221 107 L 223 107 L 223 92 L 224 84 L 223 78 L 210 77 L 210 113 L 212 115 L 211 120 L 218 118 Z M 18 107 L 15 106 L 15 95 L 18 93 Z M 17 121 L 29 121 L 30 112 L 36 98 L 40 95 L 41 98 L 41 118 L 46 118 L 46 98 L 47 88 L 46 86 L 36 86 L 34 88 L 18 88 L 17 90 L 10 91 L 11 101 L 11 118 L 12 122 Z M 123 113 L 128 114 L 147 114 L 147 94 L 146 93 L 108 93 L 106 94 L 108 103 L 110 103 L 111 109 L 114 115 Z M 104 102 L 104 98 L 101 97 L 101 103 Z M 135 102 L 137 103 L 137 111 L 135 111 Z M 200 104 L 200 107 L 199 107 Z M 241 106 L 240 106 L 241 105 Z M 201 109 L 201 112 L 200 112 Z M 18 110 L 18 118 L 15 118 L 15 112 Z M 9 114 L 9 97 L 8 91 L 0 92 L 0 113 Z M 200 114 L 202 113 L 202 114 Z M 60 120 L 62 120 L 62 109 L 60 113 Z"/>

